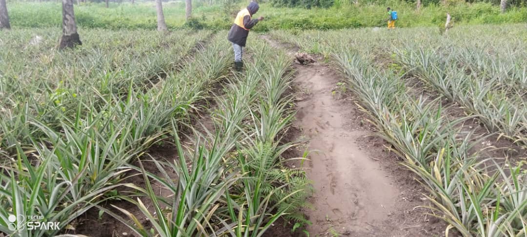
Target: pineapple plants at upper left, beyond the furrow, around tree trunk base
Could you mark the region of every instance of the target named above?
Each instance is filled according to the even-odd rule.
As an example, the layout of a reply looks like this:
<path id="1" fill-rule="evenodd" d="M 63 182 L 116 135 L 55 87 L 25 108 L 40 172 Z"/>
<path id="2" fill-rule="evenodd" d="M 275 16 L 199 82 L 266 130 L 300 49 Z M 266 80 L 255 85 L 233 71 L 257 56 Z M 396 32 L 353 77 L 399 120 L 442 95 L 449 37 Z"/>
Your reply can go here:
<path id="1" fill-rule="evenodd" d="M 89 38 L 82 48 L 58 52 L 53 48 L 53 32 L 36 32 L 44 38 L 37 45 L 28 44 L 34 33 L 27 30 L 9 32 L 2 42 L 6 50 L 0 56 L 0 147 L 4 149 L 12 148 L 16 141 L 30 142 L 19 134 L 32 130 L 24 128 L 28 125 L 19 111 L 58 129 L 58 117 L 75 120 L 82 107 L 101 111 L 112 97 L 124 98 L 130 88 L 142 90 L 150 77 L 168 69 L 161 66 L 175 66 L 192 49 L 189 45 L 206 36 L 171 34 L 164 39 L 155 32 L 93 31 L 86 34 Z M 101 40 L 102 35 L 108 38 Z M 14 140 L 1 135 L 7 132 Z"/>

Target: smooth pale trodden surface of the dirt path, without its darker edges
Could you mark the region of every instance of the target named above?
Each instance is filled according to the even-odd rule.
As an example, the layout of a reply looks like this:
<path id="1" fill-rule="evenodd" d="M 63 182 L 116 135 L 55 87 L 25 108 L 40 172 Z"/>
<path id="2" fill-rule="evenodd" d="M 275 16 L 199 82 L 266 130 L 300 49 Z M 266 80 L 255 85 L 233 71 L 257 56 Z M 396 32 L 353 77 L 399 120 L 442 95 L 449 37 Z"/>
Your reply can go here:
<path id="1" fill-rule="evenodd" d="M 299 66 L 296 81 L 308 97 L 298 103 L 297 125 L 309 139 L 308 177 L 317 193 L 308 215 L 311 234 L 376 235 L 394 210 L 393 181 L 356 143 L 366 135 L 345 126 L 349 109 L 335 100 L 337 78 L 327 67 Z"/>

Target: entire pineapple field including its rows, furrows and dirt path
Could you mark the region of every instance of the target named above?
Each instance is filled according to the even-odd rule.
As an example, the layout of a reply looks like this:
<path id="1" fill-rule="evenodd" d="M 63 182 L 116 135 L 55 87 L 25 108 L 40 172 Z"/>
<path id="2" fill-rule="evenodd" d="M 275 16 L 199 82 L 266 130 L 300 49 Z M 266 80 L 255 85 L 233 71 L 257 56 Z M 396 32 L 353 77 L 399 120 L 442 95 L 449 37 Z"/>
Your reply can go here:
<path id="1" fill-rule="evenodd" d="M 0 32 L 0 236 L 527 236 L 525 24 L 61 33 Z"/>

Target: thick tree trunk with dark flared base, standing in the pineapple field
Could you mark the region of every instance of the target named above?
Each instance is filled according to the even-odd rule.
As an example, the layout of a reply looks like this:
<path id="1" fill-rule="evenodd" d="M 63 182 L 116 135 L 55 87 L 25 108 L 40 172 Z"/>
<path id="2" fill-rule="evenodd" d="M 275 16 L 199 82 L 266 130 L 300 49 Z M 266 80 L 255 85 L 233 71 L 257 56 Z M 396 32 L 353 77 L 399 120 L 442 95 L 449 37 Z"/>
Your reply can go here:
<path id="1" fill-rule="evenodd" d="M 73 0 L 62 0 L 62 38 L 58 48 L 62 50 L 73 48 L 75 45 L 82 45 L 82 42 L 77 34 Z"/>

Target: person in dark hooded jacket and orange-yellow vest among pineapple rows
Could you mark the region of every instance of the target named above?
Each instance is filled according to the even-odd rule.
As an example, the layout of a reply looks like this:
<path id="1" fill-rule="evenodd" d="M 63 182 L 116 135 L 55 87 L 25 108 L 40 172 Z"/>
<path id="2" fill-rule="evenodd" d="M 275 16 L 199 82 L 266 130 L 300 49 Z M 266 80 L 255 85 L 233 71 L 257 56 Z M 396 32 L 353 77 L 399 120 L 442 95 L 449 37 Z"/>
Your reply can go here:
<path id="1" fill-rule="evenodd" d="M 252 15 L 258 12 L 259 8 L 258 3 L 251 2 L 247 8 L 241 10 L 236 16 L 234 24 L 232 24 L 229 31 L 229 36 L 227 37 L 232 43 L 232 48 L 234 48 L 234 64 L 238 72 L 243 68 L 241 55 L 243 53 L 243 47 L 245 47 L 245 43 L 247 42 L 249 30 L 258 24 L 258 21 L 264 19 L 263 16 L 258 17 L 258 19 L 252 19 Z"/>

